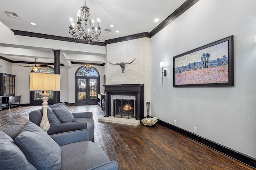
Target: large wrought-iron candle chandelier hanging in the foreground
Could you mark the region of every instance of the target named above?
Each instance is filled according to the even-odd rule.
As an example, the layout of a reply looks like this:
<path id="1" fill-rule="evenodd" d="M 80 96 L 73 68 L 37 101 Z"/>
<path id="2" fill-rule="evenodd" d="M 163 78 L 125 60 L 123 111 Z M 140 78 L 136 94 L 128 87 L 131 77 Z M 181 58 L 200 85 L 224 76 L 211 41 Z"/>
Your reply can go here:
<path id="1" fill-rule="evenodd" d="M 71 24 L 69 27 L 69 33 L 72 36 L 75 41 L 81 41 L 83 43 L 94 43 L 96 44 L 99 39 L 99 35 L 101 33 L 100 31 L 100 25 L 98 20 L 98 26 L 94 26 L 94 20 L 91 20 L 89 8 L 86 6 L 85 0 L 84 0 L 84 6 L 80 8 L 77 14 L 77 32 L 74 30 L 74 23 L 72 22 L 73 19 L 71 18 Z M 92 25 L 92 26 L 91 26 Z"/>

